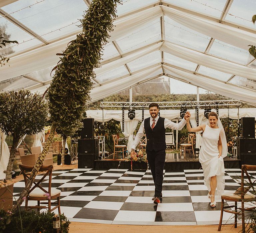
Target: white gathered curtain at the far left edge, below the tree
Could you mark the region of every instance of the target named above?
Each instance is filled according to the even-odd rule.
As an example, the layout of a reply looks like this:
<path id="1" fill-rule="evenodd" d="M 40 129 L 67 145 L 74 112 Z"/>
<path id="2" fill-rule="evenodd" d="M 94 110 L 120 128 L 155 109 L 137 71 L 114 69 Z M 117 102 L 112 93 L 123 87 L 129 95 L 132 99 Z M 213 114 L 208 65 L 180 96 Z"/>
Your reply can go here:
<path id="1" fill-rule="evenodd" d="M 1 158 L 0 158 L 0 180 L 5 179 L 6 174 L 4 171 L 7 169 L 7 165 L 9 162 L 9 157 L 10 157 L 10 151 L 8 148 L 8 145 L 5 141 L 6 134 L 0 130 L 0 140 L 1 140 Z"/>

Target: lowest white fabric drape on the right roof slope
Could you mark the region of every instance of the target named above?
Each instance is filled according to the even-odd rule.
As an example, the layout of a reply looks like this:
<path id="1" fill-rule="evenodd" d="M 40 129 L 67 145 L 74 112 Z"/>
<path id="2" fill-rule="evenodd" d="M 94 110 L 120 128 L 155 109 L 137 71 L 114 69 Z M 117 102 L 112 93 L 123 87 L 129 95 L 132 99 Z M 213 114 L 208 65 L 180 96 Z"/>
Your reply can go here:
<path id="1" fill-rule="evenodd" d="M 192 85 L 204 88 L 206 90 L 211 90 L 212 92 L 235 100 L 242 100 L 254 105 L 256 104 L 255 91 L 245 90 L 224 82 L 220 84 L 220 82 L 216 80 L 206 78 L 201 75 L 191 74 L 165 65 L 163 66 L 166 71 L 169 71 L 166 73 L 170 76 L 174 76 L 176 79 L 189 82 Z"/>

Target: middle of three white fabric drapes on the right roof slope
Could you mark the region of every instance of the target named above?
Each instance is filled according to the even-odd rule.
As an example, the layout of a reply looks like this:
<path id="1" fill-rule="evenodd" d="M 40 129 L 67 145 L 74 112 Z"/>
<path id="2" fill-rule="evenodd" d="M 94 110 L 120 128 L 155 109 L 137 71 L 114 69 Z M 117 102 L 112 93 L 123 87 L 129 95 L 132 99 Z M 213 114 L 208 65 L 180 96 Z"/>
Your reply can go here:
<path id="1" fill-rule="evenodd" d="M 164 42 L 160 50 L 170 53 L 176 57 L 185 59 L 187 61 L 194 62 L 199 65 L 206 66 L 224 73 L 229 73 L 232 75 L 245 77 L 247 79 L 256 80 L 256 69 L 253 69 L 252 67 L 239 65 L 221 58 L 216 58 L 208 54 L 182 47 L 180 45 L 175 45 L 168 41 Z"/>

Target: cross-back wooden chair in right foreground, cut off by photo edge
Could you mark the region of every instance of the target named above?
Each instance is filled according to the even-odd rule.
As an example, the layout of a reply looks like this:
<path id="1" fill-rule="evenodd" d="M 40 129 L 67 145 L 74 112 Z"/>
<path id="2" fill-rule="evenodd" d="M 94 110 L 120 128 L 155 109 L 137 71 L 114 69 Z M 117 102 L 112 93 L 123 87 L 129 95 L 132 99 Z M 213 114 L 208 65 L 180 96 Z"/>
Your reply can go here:
<path id="1" fill-rule="evenodd" d="M 245 202 L 255 202 L 255 194 L 252 194 L 248 192 L 251 188 L 253 189 L 253 192 L 255 193 L 255 181 L 256 179 L 254 178 L 254 181 L 251 181 L 250 175 L 248 174 L 247 171 L 255 171 L 256 170 L 256 165 L 242 165 L 242 172 L 241 172 L 241 187 L 239 187 L 236 191 L 226 191 L 221 194 L 221 213 L 220 213 L 220 222 L 219 222 L 219 229 L 218 231 L 221 230 L 221 225 L 222 225 L 222 217 L 223 217 L 223 211 L 235 214 L 235 228 L 237 227 L 237 215 L 242 215 L 242 232 L 245 233 L 245 219 L 244 219 L 244 211 L 252 211 L 256 207 L 249 207 L 249 208 L 244 208 L 244 203 Z M 248 179 L 249 183 L 244 182 L 244 173 L 246 174 L 246 178 Z M 247 187 L 245 187 L 245 185 Z M 232 206 L 224 206 L 224 200 L 226 201 L 234 201 L 235 205 Z M 237 207 L 237 202 L 241 202 L 241 208 Z M 227 210 L 230 208 L 235 207 L 235 210 Z M 241 211 L 237 211 L 237 209 Z"/>

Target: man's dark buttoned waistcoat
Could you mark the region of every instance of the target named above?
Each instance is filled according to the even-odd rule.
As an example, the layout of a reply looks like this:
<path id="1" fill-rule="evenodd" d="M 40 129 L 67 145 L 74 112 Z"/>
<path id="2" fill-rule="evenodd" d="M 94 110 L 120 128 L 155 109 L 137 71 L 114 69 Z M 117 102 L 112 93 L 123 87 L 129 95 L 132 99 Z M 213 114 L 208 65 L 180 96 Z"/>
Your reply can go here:
<path id="1" fill-rule="evenodd" d="M 147 150 L 165 150 L 165 128 L 164 128 L 164 118 L 159 117 L 157 123 L 153 129 L 150 125 L 150 117 L 144 120 L 144 129 L 147 137 Z"/>

